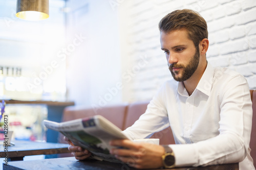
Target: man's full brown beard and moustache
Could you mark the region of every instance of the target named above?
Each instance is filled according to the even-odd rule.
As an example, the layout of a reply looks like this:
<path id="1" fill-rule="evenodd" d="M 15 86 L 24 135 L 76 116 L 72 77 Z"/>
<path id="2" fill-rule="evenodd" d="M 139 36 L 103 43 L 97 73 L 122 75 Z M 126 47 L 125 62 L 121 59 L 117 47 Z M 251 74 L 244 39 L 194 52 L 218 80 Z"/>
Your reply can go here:
<path id="1" fill-rule="evenodd" d="M 178 81 L 178 82 L 183 82 L 186 81 L 187 79 L 189 79 L 194 72 L 197 70 L 197 67 L 199 65 L 199 58 L 200 58 L 200 53 L 199 53 L 199 47 L 197 47 L 197 51 L 194 55 L 194 57 L 189 61 L 189 63 L 187 64 L 187 66 L 184 66 L 183 64 L 170 64 L 169 66 L 169 70 L 172 73 L 172 76 L 174 78 L 174 80 Z M 175 77 L 175 72 L 173 71 L 172 68 L 183 68 L 183 74 L 180 78 Z M 181 71 L 181 70 L 179 70 Z M 177 71 L 178 73 L 178 71 Z"/>

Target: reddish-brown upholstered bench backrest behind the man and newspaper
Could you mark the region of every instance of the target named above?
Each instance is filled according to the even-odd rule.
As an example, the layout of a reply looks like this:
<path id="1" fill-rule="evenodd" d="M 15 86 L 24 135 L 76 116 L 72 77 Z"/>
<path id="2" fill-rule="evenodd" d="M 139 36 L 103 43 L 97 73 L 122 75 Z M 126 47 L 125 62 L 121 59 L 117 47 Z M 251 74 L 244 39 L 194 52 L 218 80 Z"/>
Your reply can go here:
<path id="1" fill-rule="evenodd" d="M 252 130 L 251 130 L 251 157 L 254 160 L 254 166 L 256 167 L 256 90 L 250 90 L 252 100 Z M 63 113 L 62 122 L 73 120 L 77 118 L 83 118 L 100 114 L 109 119 L 120 129 L 124 130 L 130 127 L 134 122 L 143 114 L 147 108 L 149 102 L 132 103 L 130 105 L 123 104 L 117 106 L 108 106 L 104 108 L 98 108 L 95 112 L 95 108 L 76 108 L 73 106 L 67 107 Z M 175 144 L 172 130 L 166 128 L 160 132 L 155 133 L 151 138 L 159 138 L 160 144 Z M 65 142 L 62 140 L 63 136 L 59 135 L 59 142 Z"/>

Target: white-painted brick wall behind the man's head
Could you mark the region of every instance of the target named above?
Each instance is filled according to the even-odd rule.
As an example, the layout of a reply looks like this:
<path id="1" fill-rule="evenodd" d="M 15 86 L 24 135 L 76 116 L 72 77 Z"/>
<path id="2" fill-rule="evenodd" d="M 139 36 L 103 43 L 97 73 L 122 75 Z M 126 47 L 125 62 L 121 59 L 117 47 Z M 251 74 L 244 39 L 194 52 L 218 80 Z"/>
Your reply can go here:
<path id="1" fill-rule="evenodd" d="M 159 86 L 172 79 L 160 50 L 158 22 L 176 9 L 193 9 L 207 21 L 210 47 L 207 60 L 214 66 L 240 72 L 256 88 L 255 0 L 140 0 L 120 4 L 123 71 L 147 56 L 148 63 L 124 83 L 123 101 L 152 99 Z"/>

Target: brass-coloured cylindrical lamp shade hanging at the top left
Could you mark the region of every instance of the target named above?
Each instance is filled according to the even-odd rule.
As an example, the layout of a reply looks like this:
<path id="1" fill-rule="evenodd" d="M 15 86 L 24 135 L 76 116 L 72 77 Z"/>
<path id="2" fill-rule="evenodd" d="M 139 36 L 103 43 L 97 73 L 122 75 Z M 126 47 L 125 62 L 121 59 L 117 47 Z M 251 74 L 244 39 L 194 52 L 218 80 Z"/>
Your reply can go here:
<path id="1" fill-rule="evenodd" d="M 26 20 L 49 17 L 49 0 L 17 0 L 16 16 Z"/>

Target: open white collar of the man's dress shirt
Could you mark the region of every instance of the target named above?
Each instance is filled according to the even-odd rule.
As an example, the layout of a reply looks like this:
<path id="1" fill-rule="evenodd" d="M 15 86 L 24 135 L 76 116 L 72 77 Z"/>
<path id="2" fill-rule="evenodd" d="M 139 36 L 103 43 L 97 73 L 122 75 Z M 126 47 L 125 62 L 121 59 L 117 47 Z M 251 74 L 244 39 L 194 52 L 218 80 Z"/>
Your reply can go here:
<path id="1" fill-rule="evenodd" d="M 206 66 L 206 69 L 204 70 L 204 74 L 201 77 L 196 89 L 209 96 L 213 78 L 214 78 L 214 67 L 212 67 L 212 65 L 210 65 L 209 62 L 207 62 L 207 66 Z M 189 96 L 187 93 L 187 90 L 184 87 L 183 82 L 178 83 L 177 92 L 180 95 L 187 96 L 187 97 Z"/>

